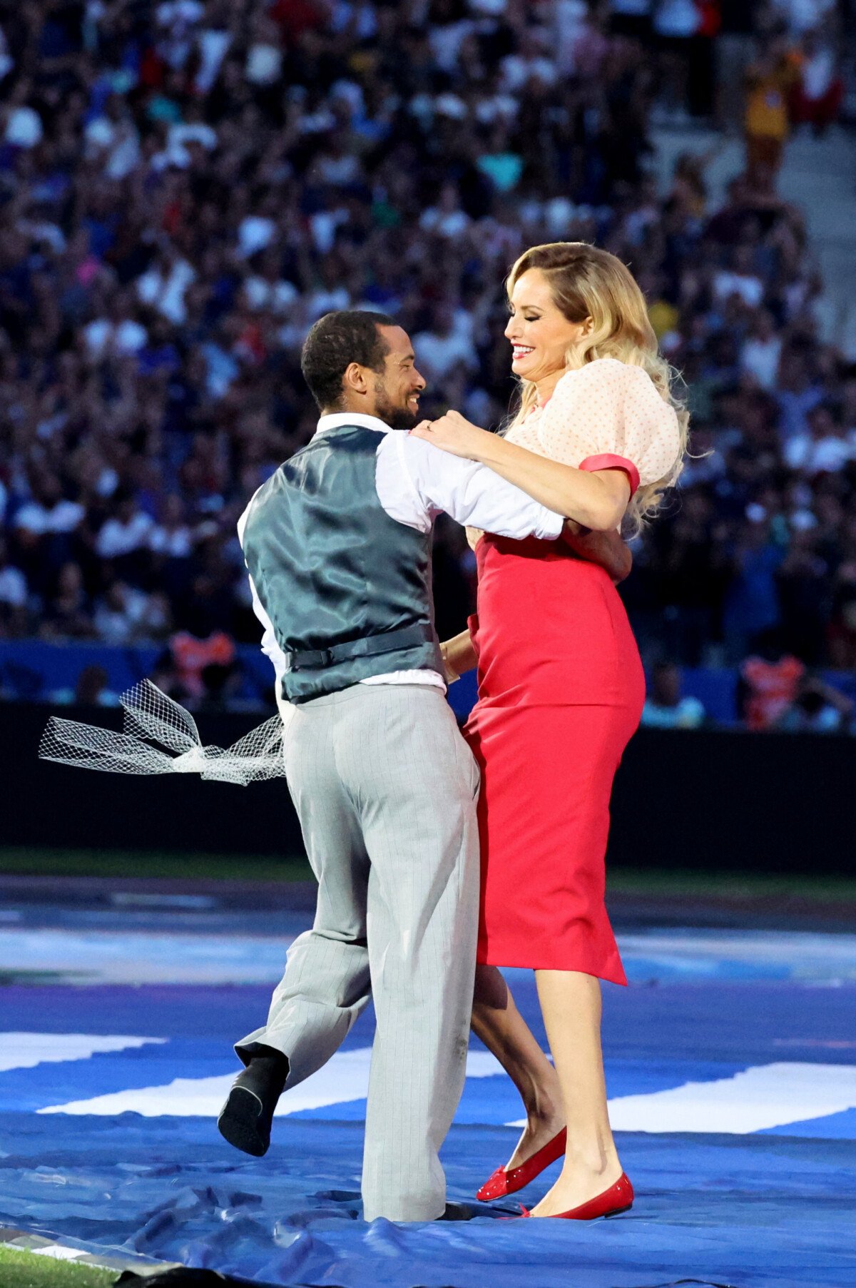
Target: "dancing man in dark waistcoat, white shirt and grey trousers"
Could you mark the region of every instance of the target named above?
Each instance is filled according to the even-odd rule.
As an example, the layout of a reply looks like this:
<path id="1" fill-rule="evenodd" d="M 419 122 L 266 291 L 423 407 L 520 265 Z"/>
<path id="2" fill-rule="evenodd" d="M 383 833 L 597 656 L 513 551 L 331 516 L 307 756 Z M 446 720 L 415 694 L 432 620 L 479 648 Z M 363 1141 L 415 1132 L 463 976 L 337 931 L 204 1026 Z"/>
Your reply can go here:
<path id="1" fill-rule="evenodd" d="M 333 1055 L 371 990 L 364 1216 L 430 1221 L 447 1213 L 438 1150 L 463 1086 L 479 898 L 479 774 L 444 701 L 431 527 L 445 510 L 555 540 L 564 520 L 395 433 L 416 424 L 425 381 L 391 318 L 327 314 L 302 371 L 318 431 L 259 488 L 238 532 L 318 907 L 266 1024 L 236 1047 L 246 1068 L 219 1127 L 264 1154 L 281 1092 Z"/>

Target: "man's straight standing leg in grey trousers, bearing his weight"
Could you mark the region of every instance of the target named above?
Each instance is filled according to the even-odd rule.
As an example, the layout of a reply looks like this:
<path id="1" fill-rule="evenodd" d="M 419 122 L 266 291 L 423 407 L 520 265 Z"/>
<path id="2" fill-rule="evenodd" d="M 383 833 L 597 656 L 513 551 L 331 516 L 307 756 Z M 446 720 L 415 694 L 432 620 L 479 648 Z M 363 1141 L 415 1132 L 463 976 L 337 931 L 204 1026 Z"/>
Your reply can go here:
<path id="1" fill-rule="evenodd" d="M 438 1151 L 463 1088 L 479 900 L 479 772 L 436 689 L 364 687 L 340 729 L 371 859 L 377 1034 L 366 1114 L 366 1220 L 445 1207 Z M 348 747 L 348 755 L 341 748 Z"/>

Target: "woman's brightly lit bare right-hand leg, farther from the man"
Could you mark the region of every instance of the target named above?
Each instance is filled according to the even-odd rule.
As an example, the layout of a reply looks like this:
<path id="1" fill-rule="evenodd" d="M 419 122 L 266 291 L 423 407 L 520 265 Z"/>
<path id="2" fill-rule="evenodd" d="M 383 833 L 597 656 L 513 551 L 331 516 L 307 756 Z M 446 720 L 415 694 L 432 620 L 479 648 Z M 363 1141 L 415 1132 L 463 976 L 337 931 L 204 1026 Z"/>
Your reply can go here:
<path id="1" fill-rule="evenodd" d="M 566 1106 L 568 1153 L 559 1180 L 532 1215 L 556 1216 L 614 1185 L 622 1164 L 606 1109 L 600 980 L 563 970 L 535 971 L 535 980 Z"/>

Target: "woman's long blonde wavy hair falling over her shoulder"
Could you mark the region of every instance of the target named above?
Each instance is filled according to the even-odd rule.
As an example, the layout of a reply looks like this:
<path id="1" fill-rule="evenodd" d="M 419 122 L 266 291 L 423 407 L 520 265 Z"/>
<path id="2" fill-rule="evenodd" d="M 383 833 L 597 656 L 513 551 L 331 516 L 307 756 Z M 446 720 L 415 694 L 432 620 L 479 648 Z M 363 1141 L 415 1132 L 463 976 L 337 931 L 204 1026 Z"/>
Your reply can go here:
<path id="1" fill-rule="evenodd" d="M 665 478 L 641 487 L 627 507 L 626 526 L 636 535 L 656 511 L 664 491 L 677 482 L 684 469 L 690 416 L 686 404 L 672 392 L 677 372 L 658 350 L 645 296 L 636 278 L 615 255 L 588 242 L 532 246 L 508 273 L 508 299 L 517 279 L 533 268 L 544 274 L 556 307 L 569 322 L 592 319 L 592 330 L 584 343 L 568 350 L 565 370 L 577 370 L 597 358 L 618 358 L 631 367 L 641 367 L 651 377 L 660 398 L 677 415 L 681 450 L 675 466 Z M 520 406 L 508 421 L 506 433 L 520 424 L 537 401 L 537 389 L 530 380 L 521 380 L 520 385 Z"/>

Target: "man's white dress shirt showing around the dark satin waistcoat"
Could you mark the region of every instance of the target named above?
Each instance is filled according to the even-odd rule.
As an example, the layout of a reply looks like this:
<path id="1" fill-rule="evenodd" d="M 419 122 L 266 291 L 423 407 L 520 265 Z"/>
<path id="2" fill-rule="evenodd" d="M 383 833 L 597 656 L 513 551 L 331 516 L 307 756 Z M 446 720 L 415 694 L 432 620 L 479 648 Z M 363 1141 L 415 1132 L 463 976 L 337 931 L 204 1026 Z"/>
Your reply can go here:
<path id="1" fill-rule="evenodd" d="M 362 425 L 382 435 L 377 444 L 375 471 L 377 496 L 389 516 L 408 528 L 430 532 L 438 514 L 445 513 L 461 524 L 517 541 L 524 537 L 555 541 L 561 533 L 565 522 L 561 514 L 555 514 L 533 501 L 487 465 L 452 456 L 423 438 L 413 438 L 403 430 L 391 430 L 375 416 L 354 412 L 322 416 L 315 438 L 341 425 Z M 238 540 L 242 545 L 248 513 L 250 506 L 238 519 Z M 277 644 L 273 625 L 259 599 L 252 577 L 250 589 L 252 609 L 264 626 L 261 652 L 273 663 L 277 676 L 277 705 L 284 720 L 288 703 L 282 699 L 281 680 L 286 674 L 286 658 Z M 425 670 L 390 671 L 387 675 L 373 675 L 359 683 L 431 684 L 445 692 L 444 676 Z"/>

